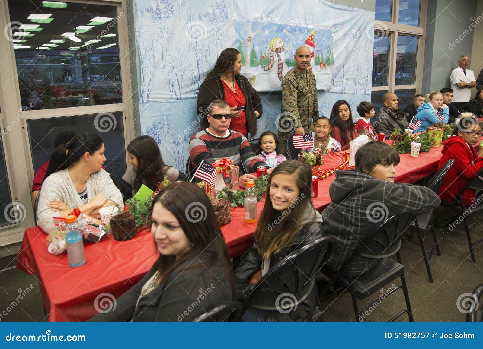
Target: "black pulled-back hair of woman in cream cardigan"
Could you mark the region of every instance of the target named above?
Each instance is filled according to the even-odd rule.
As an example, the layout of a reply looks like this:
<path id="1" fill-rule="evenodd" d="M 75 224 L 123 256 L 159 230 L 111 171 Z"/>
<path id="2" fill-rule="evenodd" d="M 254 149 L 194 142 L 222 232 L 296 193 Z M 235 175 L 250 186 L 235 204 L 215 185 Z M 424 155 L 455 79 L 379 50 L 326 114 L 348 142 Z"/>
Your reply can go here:
<path id="1" fill-rule="evenodd" d="M 85 153 L 94 154 L 102 148 L 102 139 L 94 134 L 82 132 L 76 134 L 69 142 L 59 145 L 49 160 L 45 178 L 52 173 L 68 168 L 78 162 Z"/>

